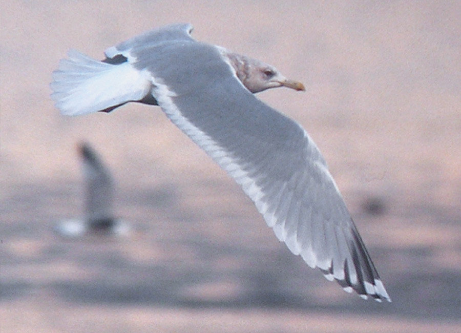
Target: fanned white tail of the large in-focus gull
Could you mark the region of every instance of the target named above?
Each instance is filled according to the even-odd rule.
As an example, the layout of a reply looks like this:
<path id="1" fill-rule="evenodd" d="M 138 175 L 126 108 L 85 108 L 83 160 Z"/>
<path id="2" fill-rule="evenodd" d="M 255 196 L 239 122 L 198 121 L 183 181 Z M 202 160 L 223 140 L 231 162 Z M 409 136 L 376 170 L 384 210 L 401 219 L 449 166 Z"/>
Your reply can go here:
<path id="1" fill-rule="evenodd" d="M 149 73 L 128 61 L 119 65 L 103 63 L 70 50 L 53 72 L 51 97 L 62 114 L 75 116 L 137 101 L 151 91 Z"/>

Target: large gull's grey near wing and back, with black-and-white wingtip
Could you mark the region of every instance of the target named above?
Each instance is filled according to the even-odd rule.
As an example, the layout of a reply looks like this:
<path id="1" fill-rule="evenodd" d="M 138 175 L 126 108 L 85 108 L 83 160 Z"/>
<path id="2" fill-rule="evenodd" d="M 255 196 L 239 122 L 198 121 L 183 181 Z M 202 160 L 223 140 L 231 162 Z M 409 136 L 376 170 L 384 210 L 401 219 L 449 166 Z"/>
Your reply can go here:
<path id="1" fill-rule="evenodd" d="M 297 122 L 244 88 L 214 46 L 180 41 L 131 54 L 152 74 L 166 115 L 242 186 L 292 253 L 347 292 L 390 301 L 319 149 Z"/>

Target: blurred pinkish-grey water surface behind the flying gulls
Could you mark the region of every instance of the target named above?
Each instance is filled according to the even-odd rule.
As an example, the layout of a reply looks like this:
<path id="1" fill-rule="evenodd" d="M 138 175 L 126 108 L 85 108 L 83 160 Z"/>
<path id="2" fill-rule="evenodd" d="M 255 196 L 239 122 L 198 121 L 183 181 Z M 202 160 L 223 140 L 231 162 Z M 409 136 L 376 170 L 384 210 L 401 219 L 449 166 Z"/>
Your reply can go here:
<path id="1" fill-rule="evenodd" d="M 459 331 L 459 2 L 0 6 L 2 333 Z M 51 72 L 68 49 L 102 58 L 175 22 L 304 82 L 305 93 L 258 97 L 319 145 L 393 303 L 346 294 L 291 255 L 158 108 L 69 118 L 53 107 Z M 81 212 L 82 140 L 114 172 L 132 237 L 52 232 Z"/>

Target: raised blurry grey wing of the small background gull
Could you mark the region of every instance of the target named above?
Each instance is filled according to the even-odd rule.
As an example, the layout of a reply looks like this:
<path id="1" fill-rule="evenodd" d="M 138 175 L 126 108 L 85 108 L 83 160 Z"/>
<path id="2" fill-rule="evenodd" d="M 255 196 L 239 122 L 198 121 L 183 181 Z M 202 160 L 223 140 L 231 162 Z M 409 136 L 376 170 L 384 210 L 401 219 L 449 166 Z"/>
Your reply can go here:
<path id="1" fill-rule="evenodd" d="M 109 170 L 87 143 L 79 147 L 85 178 L 85 214 L 89 222 L 112 218 L 113 181 Z"/>

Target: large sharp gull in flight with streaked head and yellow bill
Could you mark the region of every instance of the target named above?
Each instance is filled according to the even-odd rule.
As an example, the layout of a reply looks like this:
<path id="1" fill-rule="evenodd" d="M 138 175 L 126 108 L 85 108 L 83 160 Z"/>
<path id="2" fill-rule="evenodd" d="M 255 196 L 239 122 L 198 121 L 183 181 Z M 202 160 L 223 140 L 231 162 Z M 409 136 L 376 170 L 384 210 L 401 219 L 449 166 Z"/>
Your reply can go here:
<path id="1" fill-rule="evenodd" d="M 107 49 L 78 51 L 53 73 L 64 115 L 159 106 L 229 174 L 290 251 L 346 292 L 391 301 L 317 145 L 255 93 L 304 86 L 275 67 L 192 38 L 192 25 L 148 31 Z"/>

